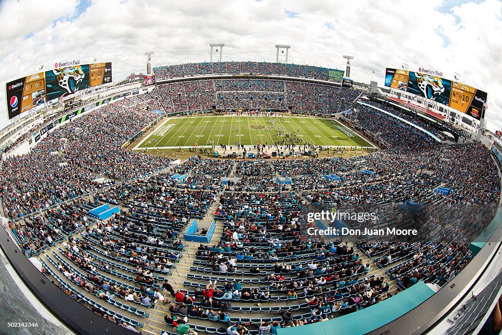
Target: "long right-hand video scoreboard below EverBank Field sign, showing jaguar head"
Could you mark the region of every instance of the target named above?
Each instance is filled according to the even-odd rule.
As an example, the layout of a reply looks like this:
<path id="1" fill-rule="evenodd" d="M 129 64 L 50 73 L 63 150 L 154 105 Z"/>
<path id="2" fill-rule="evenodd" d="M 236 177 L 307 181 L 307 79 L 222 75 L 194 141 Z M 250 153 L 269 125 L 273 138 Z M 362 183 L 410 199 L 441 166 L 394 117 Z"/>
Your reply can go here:
<path id="1" fill-rule="evenodd" d="M 386 69 L 385 85 L 421 95 L 452 107 L 476 120 L 484 117 L 488 94 L 472 86 L 439 76 L 401 69 Z"/>

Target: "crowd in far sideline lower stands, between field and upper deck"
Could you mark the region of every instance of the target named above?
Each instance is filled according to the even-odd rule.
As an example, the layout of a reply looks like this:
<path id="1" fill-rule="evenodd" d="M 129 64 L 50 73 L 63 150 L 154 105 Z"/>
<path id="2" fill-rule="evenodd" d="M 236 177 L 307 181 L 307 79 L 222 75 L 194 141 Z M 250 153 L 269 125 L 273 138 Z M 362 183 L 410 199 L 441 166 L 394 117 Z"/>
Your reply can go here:
<path id="1" fill-rule="evenodd" d="M 216 79 L 159 84 L 150 92 L 156 108 L 166 113 L 217 109 L 280 109 L 305 114 L 344 111 L 361 91 L 314 83 L 272 79 Z"/>

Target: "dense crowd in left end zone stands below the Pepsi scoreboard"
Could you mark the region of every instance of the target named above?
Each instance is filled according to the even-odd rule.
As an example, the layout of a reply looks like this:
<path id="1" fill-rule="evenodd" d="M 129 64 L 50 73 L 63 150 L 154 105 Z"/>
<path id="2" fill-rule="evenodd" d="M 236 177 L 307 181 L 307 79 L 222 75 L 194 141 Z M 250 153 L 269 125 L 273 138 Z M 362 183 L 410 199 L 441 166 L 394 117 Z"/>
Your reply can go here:
<path id="1" fill-rule="evenodd" d="M 171 159 L 122 149 L 158 116 L 128 99 L 90 111 L 52 131 L 31 152 L 5 160 L 0 200 L 18 217 L 106 186 L 97 178 L 129 180 Z"/>

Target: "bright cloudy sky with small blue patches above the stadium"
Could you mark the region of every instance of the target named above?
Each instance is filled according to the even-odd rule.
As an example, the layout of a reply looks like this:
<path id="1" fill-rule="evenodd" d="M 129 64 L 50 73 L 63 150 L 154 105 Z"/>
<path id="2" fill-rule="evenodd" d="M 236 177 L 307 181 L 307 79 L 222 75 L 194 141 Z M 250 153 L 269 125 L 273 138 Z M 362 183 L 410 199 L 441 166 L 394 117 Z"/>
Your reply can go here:
<path id="1" fill-rule="evenodd" d="M 114 81 L 153 65 L 205 61 L 209 43 L 225 43 L 223 60 L 289 61 L 344 68 L 351 78 L 383 85 L 386 67 L 455 72 L 488 92 L 488 128 L 502 128 L 502 2 L 486 1 L 151 1 L 2 0 L 0 128 L 6 126 L 6 82 L 40 61 L 113 62 Z"/>

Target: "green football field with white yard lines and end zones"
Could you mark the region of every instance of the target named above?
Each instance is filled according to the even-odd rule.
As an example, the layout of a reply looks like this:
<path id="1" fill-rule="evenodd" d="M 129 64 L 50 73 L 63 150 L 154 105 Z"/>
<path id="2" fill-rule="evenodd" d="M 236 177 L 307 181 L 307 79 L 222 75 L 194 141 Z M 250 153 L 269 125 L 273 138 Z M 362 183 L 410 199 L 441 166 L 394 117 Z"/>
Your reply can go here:
<path id="1" fill-rule="evenodd" d="M 273 122 L 274 121 L 274 122 Z M 170 118 L 146 136 L 135 149 L 179 148 L 198 144 L 255 145 L 281 142 L 284 131 L 303 143 L 335 147 L 373 147 L 336 120 L 305 117 L 204 116 Z M 298 145 L 298 143 L 295 142 Z"/>

